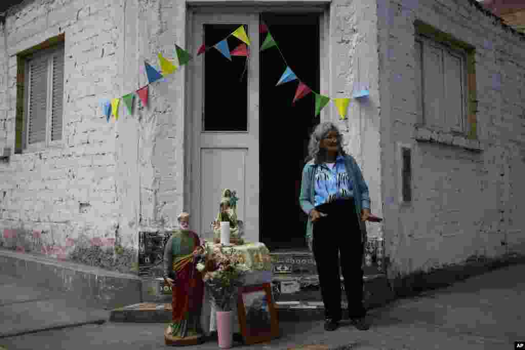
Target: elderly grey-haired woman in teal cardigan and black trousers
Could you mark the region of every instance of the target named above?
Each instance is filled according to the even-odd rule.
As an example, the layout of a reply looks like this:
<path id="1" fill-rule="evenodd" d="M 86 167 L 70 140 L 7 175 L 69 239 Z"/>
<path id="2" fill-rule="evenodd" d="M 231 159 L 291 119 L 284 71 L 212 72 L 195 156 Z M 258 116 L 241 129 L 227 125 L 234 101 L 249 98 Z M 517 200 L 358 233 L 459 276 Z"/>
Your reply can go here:
<path id="1" fill-rule="evenodd" d="M 341 141 L 337 126 L 330 122 L 319 124 L 312 132 L 299 202 L 310 218 L 306 236 L 319 273 L 324 329 L 335 330 L 342 317 L 340 260 L 349 317 L 356 328 L 367 330 L 362 258 L 370 197 L 359 166 L 345 154 Z"/>

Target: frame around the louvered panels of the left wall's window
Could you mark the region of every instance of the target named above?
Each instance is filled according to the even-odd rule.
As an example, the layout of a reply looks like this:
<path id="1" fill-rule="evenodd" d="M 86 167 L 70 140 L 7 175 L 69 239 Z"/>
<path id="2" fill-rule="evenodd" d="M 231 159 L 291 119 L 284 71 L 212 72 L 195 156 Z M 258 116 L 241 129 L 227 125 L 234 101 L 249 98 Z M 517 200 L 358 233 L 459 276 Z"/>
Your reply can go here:
<path id="1" fill-rule="evenodd" d="M 65 45 L 60 43 L 58 45 L 41 49 L 33 54 L 25 56 L 24 59 L 24 117 L 23 117 L 23 135 L 22 135 L 22 153 L 31 153 L 42 151 L 49 147 L 61 147 L 64 145 L 64 90 L 62 90 L 62 113 L 60 118 L 62 119 L 61 126 L 61 138 L 60 140 L 52 141 L 51 132 L 52 132 L 52 120 L 51 116 L 53 114 L 53 57 L 57 54 L 64 56 L 64 66 L 65 66 Z M 29 62 L 33 59 L 38 59 L 47 56 L 47 100 L 46 100 L 46 139 L 43 142 L 38 142 L 34 144 L 29 144 L 29 108 L 30 108 L 30 70 Z M 62 79 L 65 80 L 65 67 L 62 69 L 64 76 Z M 65 86 L 65 82 L 62 81 L 62 87 Z"/>

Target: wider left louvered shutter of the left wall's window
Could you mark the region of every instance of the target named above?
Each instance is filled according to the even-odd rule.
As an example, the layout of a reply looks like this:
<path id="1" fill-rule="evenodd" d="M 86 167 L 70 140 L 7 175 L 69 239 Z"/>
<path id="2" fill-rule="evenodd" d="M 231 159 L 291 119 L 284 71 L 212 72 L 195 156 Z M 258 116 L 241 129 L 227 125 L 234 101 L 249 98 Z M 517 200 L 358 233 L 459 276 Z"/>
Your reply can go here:
<path id="1" fill-rule="evenodd" d="M 48 58 L 29 61 L 28 143 L 46 141 Z"/>

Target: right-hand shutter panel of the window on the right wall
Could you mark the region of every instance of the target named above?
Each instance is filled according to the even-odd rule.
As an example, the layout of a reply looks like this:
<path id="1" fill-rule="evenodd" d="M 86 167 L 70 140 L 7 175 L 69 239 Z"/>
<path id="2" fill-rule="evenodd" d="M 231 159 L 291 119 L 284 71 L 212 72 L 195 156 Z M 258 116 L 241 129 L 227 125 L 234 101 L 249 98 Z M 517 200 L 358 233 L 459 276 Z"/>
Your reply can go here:
<path id="1" fill-rule="evenodd" d="M 464 78 L 463 59 L 445 52 L 445 125 L 449 130 L 463 131 Z"/>

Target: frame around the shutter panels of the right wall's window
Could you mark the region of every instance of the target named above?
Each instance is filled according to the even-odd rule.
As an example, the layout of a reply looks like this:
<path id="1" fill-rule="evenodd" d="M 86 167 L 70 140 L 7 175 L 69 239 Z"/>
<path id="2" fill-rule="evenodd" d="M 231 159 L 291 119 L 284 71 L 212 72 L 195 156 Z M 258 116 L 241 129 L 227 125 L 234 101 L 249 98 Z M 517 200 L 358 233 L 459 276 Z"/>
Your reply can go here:
<path id="1" fill-rule="evenodd" d="M 423 126 L 424 128 L 428 128 L 430 130 L 436 130 L 436 131 L 444 131 L 446 133 L 454 134 L 454 135 L 461 135 L 461 136 L 468 136 L 468 97 L 469 97 L 469 87 L 468 87 L 468 52 L 465 49 L 453 47 L 452 45 L 447 45 L 445 41 L 436 40 L 432 36 L 428 36 L 425 34 L 418 33 L 415 36 L 415 43 L 421 44 L 421 56 L 419 59 L 419 68 L 421 69 L 421 89 L 420 89 L 420 98 L 421 98 L 421 115 L 419 114 L 419 110 L 417 112 L 418 114 L 418 123 L 420 126 Z M 425 52 L 428 50 L 428 46 L 434 46 L 438 47 L 443 50 L 444 53 L 447 53 L 450 56 L 453 57 L 459 57 L 461 59 L 461 91 L 462 91 L 462 98 L 461 98 L 461 119 L 460 119 L 460 130 L 455 130 L 453 126 L 449 126 L 446 119 L 446 113 L 445 111 L 442 112 L 441 116 L 441 123 L 442 125 L 434 126 L 429 125 L 426 121 L 426 113 L 425 113 Z M 416 45 L 414 45 L 414 50 L 416 50 Z M 416 56 L 416 55 L 414 55 Z M 445 61 L 445 55 L 442 57 L 442 67 L 443 67 L 443 87 L 445 92 L 445 69 L 446 69 L 446 61 Z M 445 95 L 443 96 L 442 104 L 444 105 L 446 98 Z M 445 119 L 443 119 L 443 116 L 445 116 Z"/>

